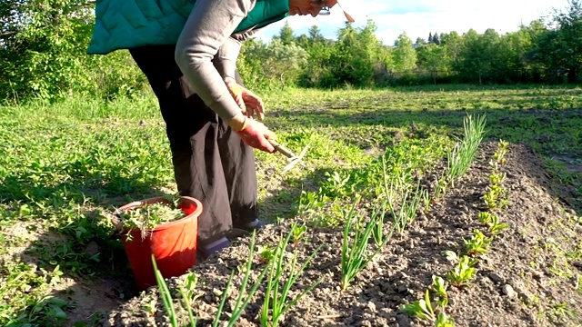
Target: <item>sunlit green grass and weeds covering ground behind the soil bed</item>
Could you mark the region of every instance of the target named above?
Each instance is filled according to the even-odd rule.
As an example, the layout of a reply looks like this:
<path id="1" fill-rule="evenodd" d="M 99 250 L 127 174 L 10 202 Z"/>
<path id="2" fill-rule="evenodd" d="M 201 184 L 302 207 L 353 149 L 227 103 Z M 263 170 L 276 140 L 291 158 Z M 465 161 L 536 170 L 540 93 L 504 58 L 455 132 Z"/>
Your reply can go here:
<path id="1" fill-rule="evenodd" d="M 528 85 L 263 94 L 265 123 L 280 142 L 296 152 L 311 144 L 285 176 L 266 173 L 283 169 L 282 156 L 256 154 L 262 215 L 298 212 L 314 224 L 341 226 L 353 194 L 366 206 L 384 192 L 383 169 L 403 176 L 393 181 L 400 190 L 435 170 L 464 134 L 467 114 L 487 115 L 484 140 L 528 144 L 545 156 L 550 173 L 577 187 L 579 210 L 582 174 L 568 167 L 582 155 L 581 94 L 578 87 Z M 0 324 L 59 324 L 74 305 L 65 292 L 52 292 L 63 276 L 129 273 L 119 266 L 123 250 L 110 238 L 105 213 L 175 192 L 165 125 L 153 95 L 144 94 L 112 103 L 5 105 L 0 126 Z M 91 243 L 99 253 L 85 251 Z"/>

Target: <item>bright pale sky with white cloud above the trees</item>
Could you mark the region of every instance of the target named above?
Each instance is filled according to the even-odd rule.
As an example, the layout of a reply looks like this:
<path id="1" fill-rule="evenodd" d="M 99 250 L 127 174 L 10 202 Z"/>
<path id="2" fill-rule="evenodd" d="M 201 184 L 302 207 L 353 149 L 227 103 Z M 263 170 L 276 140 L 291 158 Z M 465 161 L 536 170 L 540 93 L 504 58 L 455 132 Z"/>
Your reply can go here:
<path id="1" fill-rule="evenodd" d="M 551 13 L 552 8 L 565 8 L 567 0 L 340 0 L 340 4 L 354 16 L 356 27 L 366 25 L 372 19 L 377 26 L 376 35 L 385 45 L 393 45 L 397 36 L 406 34 L 416 41 L 428 38 L 428 33 L 459 34 L 470 28 L 483 33 L 494 28 L 504 34 L 516 31 L 521 23 Z M 267 26 L 257 36 L 270 40 L 277 35 L 285 22 L 295 35 L 306 34 L 312 25 L 318 25 L 327 38 L 336 38 L 337 30 L 345 25 L 346 18 L 336 5 L 331 15 L 291 16 Z"/>

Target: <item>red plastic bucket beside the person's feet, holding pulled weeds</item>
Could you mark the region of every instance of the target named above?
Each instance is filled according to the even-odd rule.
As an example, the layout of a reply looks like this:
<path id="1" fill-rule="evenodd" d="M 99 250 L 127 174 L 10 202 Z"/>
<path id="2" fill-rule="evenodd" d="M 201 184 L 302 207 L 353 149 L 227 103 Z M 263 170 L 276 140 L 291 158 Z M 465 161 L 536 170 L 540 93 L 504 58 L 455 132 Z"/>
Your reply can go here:
<path id="1" fill-rule="evenodd" d="M 202 213 L 202 203 L 195 198 L 181 196 L 180 209 L 186 217 L 162 223 L 147 231 L 142 239 L 141 231 L 134 228 L 127 240 L 127 231 L 122 233 L 125 253 L 134 272 L 135 284 L 140 290 L 156 285 L 156 275 L 152 265 L 152 254 L 157 268 L 164 278 L 180 276 L 196 264 L 196 241 L 198 235 L 198 216 Z M 128 203 L 117 210 L 124 213 L 146 204 L 167 202 L 162 197 Z"/>

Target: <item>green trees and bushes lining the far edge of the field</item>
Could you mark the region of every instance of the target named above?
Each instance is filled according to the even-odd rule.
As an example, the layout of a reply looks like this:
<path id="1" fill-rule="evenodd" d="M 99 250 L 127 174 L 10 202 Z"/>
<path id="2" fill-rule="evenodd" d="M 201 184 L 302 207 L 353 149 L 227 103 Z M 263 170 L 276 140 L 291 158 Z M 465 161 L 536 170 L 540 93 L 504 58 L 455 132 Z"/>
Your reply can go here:
<path id="1" fill-rule="evenodd" d="M 86 0 L 0 0 L 0 98 L 58 99 L 69 94 L 131 95 L 147 86 L 126 51 L 87 55 L 94 4 Z M 255 87 L 370 87 L 398 84 L 578 83 L 582 0 L 516 32 L 430 33 L 394 45 L 376 25 L 346 24 L 336 40 L 317 26 L 295 35 L 285 25 L 269 42 L 246 42 L 239 70 Z"/>

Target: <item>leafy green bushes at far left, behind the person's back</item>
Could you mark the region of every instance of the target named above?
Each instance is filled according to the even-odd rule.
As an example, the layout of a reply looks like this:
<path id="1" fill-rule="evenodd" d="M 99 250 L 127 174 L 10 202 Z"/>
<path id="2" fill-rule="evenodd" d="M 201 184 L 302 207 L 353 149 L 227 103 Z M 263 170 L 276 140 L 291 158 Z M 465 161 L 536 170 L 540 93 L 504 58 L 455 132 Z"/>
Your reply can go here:
<path id="1" fill-rule="evenodd" d="M 127 95 L 141 89 L 127 52 L 86 55 L 93 3 L 81 0 L 0 1 L 0 98 L 55 100 L 71 94 Z"/>

